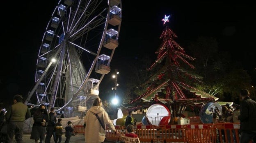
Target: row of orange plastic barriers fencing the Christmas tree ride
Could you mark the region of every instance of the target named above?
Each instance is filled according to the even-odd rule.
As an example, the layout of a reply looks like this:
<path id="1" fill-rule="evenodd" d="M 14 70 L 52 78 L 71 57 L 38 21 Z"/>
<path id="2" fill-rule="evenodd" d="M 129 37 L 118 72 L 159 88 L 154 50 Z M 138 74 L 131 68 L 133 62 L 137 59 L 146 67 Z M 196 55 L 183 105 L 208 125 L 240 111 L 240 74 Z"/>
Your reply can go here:
<path id="1" fill-rule="evenodd" d="M 123 126 L 116 125 L 117 131 L 125 134 Z M 190 124 L 190 125 L 135 125 L 134 133 L 141 142 L 185 142 L 185 143 L 224 143 L 239 142 L 240 123 Z M 111 130 L 106 130 L 108 141 L 121 138 Z"/>

